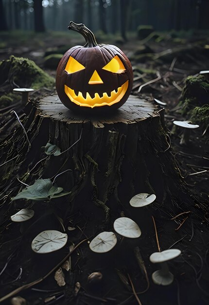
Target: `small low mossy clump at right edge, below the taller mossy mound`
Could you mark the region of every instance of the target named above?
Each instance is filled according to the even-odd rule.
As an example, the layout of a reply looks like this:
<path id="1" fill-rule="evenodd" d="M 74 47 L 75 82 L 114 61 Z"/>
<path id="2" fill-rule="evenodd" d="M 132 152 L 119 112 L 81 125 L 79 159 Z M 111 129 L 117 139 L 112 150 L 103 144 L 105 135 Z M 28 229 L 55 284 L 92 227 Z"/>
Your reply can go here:
<path id="1" fill-rule="evenodd" d="M 192 123 L 197 123 L 200 127 L 206 128 L 209 125 L 209 105 L 195 107 L 190 112 Z"/>

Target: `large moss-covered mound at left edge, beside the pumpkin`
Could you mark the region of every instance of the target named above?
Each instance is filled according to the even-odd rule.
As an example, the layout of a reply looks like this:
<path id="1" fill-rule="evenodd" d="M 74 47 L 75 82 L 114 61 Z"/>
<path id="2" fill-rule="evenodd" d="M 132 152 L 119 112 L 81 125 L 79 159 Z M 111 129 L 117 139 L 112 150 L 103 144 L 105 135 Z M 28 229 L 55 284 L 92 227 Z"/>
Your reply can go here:
<path id="1" fill-rule="evenodd" d="M 0 84 L 9 83 L 12 88 L 52 88 L 54 78 L 39 68 L 33 60 L 11 56 L 0 62 Z"/>

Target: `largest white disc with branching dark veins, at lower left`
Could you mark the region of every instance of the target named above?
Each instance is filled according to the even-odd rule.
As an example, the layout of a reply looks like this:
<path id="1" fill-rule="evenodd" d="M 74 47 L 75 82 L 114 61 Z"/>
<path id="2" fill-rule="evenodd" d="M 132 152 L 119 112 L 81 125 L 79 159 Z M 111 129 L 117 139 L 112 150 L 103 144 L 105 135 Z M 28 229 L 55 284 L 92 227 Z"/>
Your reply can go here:
<path id="1" fill-rule="evenodd" d="M 56 230 L 46 230 L 39 233 L 32 241 L 31 248 L 36 253 L 50 253 L 63 248 L 68 235 Z"/>

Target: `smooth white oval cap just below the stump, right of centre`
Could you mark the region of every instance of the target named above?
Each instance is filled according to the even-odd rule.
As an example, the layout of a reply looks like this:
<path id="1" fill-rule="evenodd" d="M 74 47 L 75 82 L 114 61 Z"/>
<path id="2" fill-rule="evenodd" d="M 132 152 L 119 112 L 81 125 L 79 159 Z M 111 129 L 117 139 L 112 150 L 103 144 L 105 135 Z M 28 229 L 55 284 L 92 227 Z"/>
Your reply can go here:
<path id="1" fill-rule="evenodd" d="M 138 238 L 141 235 L 138 224 L 128 217 L 116 219 L 113 227 L 118 234 L 124 237 Z"/>

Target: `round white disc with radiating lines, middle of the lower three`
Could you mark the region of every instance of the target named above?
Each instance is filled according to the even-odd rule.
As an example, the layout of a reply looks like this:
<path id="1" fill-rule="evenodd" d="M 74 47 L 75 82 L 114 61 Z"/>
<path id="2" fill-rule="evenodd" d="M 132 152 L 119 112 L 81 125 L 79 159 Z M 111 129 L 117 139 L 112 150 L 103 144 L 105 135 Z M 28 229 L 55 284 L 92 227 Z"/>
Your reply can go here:
<path id="1" fill-rule="evenodd" d="M 98 234 L 89 244 L 91 251 L 96 253 L 105 253 L 115 247 L 117 237 L 113 232 L 102 232 Z"/>

